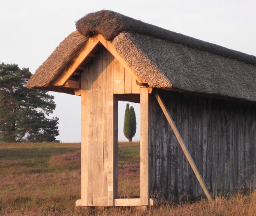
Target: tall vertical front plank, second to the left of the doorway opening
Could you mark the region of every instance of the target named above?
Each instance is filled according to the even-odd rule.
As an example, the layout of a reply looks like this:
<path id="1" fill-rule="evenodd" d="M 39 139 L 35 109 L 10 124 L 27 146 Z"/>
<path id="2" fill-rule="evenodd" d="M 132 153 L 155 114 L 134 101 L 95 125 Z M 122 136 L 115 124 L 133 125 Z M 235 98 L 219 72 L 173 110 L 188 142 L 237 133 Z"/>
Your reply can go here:
<path id="1" fill-rule="evenodd" d="M 103 50 L 103 206 L 108 205 L 108 50 Z"/>

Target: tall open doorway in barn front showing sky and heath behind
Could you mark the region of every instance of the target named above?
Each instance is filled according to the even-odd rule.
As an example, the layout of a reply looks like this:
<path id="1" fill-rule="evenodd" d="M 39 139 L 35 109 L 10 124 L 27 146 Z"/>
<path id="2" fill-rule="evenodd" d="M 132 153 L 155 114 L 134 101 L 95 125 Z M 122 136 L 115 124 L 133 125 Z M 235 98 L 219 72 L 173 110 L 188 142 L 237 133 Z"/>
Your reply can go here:
<path id="1" fill-rule="evenodd" d="M 126 104 L 136 115 L 136 134 L 129 142 L 124 135 Z M 140 198 L 140 95 L 118 95 L 118 190 L 117 198 Z"/>

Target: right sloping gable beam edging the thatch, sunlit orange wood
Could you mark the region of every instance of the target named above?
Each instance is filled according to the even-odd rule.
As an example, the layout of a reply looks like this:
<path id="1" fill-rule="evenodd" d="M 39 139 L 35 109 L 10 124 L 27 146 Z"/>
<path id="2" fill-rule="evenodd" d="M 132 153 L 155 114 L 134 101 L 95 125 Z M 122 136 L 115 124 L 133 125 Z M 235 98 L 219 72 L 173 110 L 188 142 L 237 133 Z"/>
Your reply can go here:
<path id="1" fill-rule="evenodd" d="M 136 77 L 136 80 L 138 82 L 142 82 L 141 79 L 138 77 L 138 75 L 135 73 L 135 71 L 132 69 L 132 67 L 130 67 L 126 61 L 124 61 L 124 59 L 118 54 L 118 52 L 116 51 L 116 49 L 114 48 L 114 45 L 111 43 L 111 41 L 107 41 L 105 39 L 105 37 L 103 37 L 102 35 L 98 35 L 98 40 L 100 41 L 100 43 L 102 43 L 102 45 L 104 47 L 106 47 L 106 49 L 108 49 L 108 51 L 110 51 L 110 53 L 112 55 L 114 55 L 114 57 L 127 69 L 130 71 L 130 73 L 132 73 L 132 75 L 134 77 Z"/>

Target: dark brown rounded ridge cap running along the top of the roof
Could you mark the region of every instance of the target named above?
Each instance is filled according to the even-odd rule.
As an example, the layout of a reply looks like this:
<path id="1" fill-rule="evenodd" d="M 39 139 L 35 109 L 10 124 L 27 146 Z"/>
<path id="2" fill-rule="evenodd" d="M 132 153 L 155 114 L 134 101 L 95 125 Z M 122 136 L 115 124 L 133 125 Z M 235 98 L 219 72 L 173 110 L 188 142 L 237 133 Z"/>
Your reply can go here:
<path id="1" fill-rule="evenodd" d="M 256 66 L 256 57 L 252 55 L 175 33 L 110 10 L 87 14 L 76 22 L 76 29 L 87 37 L 102 34 L 109 41 L 112 41 L 119 33 L 125 31 L 148 35 Z"/>

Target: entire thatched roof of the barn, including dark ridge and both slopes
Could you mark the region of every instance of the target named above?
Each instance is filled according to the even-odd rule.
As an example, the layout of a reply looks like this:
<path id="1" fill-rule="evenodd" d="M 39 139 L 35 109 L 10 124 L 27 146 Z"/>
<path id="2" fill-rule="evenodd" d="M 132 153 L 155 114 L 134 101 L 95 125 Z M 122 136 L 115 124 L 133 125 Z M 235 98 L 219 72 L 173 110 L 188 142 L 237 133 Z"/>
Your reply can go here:
<path id="1" fill-rule="evenodd" d="M 151 87 L 256 101 L 256 57 L 168 31 L 112 11 L 88 14 L 36 71 L 30 88 L 55 90 L 88 37 L 103 35 Z M 56 91 L 60 91 L 59 89 Z"/>

